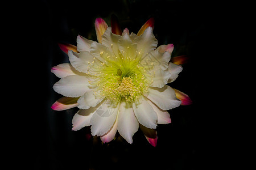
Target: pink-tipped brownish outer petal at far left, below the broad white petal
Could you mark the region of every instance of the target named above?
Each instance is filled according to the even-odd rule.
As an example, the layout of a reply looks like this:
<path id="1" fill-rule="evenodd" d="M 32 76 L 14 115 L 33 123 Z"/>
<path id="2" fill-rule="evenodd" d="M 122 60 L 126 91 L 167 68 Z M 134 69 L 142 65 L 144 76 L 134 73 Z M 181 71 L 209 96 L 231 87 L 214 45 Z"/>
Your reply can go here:
<path id="1" fill-rule="evenodd" d="M 78 97 L 61 97 L 52 104 L 51 108 L 55 111 L 64 111 L 67 109 L 75 108 L 78 105 L 78 99 Z"/>

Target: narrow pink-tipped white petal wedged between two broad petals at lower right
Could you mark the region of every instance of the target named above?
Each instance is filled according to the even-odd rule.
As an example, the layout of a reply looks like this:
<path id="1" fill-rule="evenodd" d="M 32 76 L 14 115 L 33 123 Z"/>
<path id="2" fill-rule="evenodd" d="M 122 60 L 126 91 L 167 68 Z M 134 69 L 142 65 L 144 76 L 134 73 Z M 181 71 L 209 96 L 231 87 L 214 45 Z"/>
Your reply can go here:
<path id="1" fill-rule="evenodd" d="M 170 114 L 167 111 L 160 109 L 157 105 L 152 103 L 152 101 L 150 101 L 150 100 L 148 100 L 148 103 L 151 105 L 151 107 L 154 109 L 154 111 L 158 115 L 158 124 L 170 124 L 171 123 Z"/>

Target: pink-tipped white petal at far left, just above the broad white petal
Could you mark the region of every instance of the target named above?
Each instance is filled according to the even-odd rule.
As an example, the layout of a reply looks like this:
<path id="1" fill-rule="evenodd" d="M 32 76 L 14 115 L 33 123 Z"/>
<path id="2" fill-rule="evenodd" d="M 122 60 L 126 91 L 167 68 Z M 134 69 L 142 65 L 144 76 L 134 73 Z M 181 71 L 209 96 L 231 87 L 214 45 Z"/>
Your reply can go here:
<path id="1" fill-rule="evenodd" d="M 55 74 L 58 78 L 64 78 L 69 75 L 86 75 L 77 71 L 70 63 L 62 63 L 51 68 L 51 72 Z"/>

